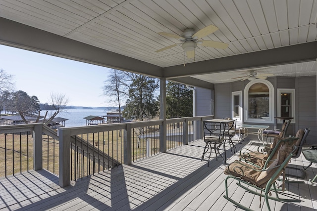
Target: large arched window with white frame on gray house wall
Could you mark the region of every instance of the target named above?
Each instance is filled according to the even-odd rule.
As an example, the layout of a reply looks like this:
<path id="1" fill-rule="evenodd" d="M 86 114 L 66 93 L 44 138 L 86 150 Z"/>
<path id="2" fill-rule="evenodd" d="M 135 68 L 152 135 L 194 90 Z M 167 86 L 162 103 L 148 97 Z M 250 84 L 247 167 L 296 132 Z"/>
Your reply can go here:
<path id="1" fill-rule="evenodd" d="M 269 81 L 251 81 L 244 96 L 245 122 L 274 123 L 274 88 Z"/>

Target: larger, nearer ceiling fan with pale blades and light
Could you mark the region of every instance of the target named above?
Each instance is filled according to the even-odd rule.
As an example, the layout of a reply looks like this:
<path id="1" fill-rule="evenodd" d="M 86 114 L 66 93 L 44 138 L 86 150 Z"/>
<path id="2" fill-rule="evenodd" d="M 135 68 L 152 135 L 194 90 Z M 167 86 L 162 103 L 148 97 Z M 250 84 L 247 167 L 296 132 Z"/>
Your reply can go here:
<path id="1" fill-rule="evenodd" d="M 186 52 L 186 55 L 188 58 L 195 58 L 195 48 L 197 47 L 197 44 L 200 44 L 200 45 L 203 45 L 206 47 L 215 47 L 215 48 L 224 49 L 224 48 L 228 47 L 229 44 L 224 43 L 224 42 L 199 40 L 202 37 L 205 37 L 205 36 L 215 32 L 217 30 L 218 30 L 217 27 L 215 27 L 213 25 L 209 25 L 209 26 L 199 30 L 196 33 L 195 33 L 194 29 L 185 29 L 185 31 L 181 35 L 169 34 L 166 32 L 159 32 L 158 33 L 159 35 L 176 38 L 176 39 L 179 39 L 181 42 L 163 47 L 155 52 L 160 52 L 160 51 L 175 47 L 177 45 L 180 45 L 180 46 L 182 46 L 182 48 Z"/>

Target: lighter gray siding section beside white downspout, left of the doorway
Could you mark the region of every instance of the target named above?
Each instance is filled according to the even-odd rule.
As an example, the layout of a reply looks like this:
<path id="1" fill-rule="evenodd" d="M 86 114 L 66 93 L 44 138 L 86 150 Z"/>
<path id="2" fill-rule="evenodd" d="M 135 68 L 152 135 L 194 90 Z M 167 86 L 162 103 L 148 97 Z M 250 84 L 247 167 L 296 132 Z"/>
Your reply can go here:
<path id="1" fill-rule="evenodd" d="M 196 116 L 212 115 L 211 89 L 196 87 Z"/>

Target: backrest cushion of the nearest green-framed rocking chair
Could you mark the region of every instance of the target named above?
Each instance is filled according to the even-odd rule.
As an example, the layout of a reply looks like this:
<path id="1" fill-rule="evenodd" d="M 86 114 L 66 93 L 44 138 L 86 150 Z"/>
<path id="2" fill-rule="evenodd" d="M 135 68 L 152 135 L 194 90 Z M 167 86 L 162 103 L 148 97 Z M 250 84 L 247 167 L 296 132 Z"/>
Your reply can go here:
<path id="1" fill-rule="evenodd" d="M 260 185 L 263 188 L 265 187 L 268 180 L 273 176 L 273 174 L 277 170 L 277 168 L 275 167 L 281 165 L 285 161 L 286 157 L 292 152 L 292 149 L 292 145 L 283 144 L 281 146 L 280 150 L 277 153 L 276 160 L 271 165 L 269 165 L 267 170 L 262 171 L 259 177 L 257 178 L 256 182 L 258 183 L 258 185 Z M 277 175 L 277 177 L 278 176 L 279 175 Z M 277 179 L 277 177 L 273 179 L 275 180 Z"/>

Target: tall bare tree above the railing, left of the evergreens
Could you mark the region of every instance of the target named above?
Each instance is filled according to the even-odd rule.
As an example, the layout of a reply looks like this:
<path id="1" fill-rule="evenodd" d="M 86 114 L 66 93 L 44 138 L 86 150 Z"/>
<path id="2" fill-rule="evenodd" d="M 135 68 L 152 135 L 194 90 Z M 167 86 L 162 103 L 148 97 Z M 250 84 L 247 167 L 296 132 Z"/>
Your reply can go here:
<path id="1" fill-rule="evenodd" d="M 119 107 L 119 119 L 121 123 L 121 101 L 126 99 L 127 86 L 124 84 L 125 75 L 122 71 L 112 69 L 111 74 L 103 86 L 104 95 L 108 96 L 108 102 Z"/>

